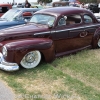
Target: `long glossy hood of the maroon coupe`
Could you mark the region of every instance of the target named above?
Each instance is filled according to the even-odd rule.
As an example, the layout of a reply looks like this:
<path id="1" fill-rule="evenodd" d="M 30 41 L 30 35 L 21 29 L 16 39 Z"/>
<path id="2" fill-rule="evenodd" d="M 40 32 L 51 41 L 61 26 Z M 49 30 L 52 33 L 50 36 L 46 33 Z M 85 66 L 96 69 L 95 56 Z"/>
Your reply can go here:
<path id="1" fill-rule="evenodd" d="M 24 25 L 18 25 L 11 28 L 6 28 L 0 30 L 0 36 L 12 36 L 12 35 L 26 35 L 26 34 L 32 34 L 37 32 L 43 32 L 48 30 L 47 25 L 37 25 L 33 23 L 24 24 Z"/>

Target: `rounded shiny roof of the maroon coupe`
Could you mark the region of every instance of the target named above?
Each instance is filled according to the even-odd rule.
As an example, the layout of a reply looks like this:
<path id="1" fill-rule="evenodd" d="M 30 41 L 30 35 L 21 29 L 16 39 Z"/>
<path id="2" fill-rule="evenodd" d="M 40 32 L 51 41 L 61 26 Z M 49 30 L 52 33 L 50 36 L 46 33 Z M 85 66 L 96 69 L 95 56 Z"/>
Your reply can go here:
<path id="1" fill-rule="evenodd" d="M 79 7 L 53 7 L 48 9 L 43 9 L 41 11 L 38 11 L 36 13 L 46 13 L 46 14 L 53 14 L 53 15 L 63 15 L 63 14 L 74 14 L 74 13 L 83 13 L 87 12 L 90 13 L 90 11 L 79 8 Z"/>

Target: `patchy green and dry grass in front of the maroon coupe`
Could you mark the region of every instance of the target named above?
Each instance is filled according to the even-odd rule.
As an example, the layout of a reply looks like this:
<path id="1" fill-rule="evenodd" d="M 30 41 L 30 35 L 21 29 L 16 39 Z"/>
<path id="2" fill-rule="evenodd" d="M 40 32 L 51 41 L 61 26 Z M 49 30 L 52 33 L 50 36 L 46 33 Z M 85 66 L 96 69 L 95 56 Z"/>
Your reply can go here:
<path id="1" fill-rule="evenodd" d="M 30 70 L 0 71 L 15 100 L 100 100 L 100 49 L 42 62 Z"/>

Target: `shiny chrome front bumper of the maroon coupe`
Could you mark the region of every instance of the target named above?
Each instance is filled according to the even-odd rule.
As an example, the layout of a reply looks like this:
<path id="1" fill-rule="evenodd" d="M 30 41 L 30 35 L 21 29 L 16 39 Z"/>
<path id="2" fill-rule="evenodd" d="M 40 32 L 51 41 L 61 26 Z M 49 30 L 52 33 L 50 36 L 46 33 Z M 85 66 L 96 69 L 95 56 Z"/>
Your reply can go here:
<path id="1" fill-rule="evenodd" d="M 17 63 L 6 62 L 2 53 L 0 53 L 0 69 L 5 71 L 16 71 L 19 70 L 19 66 Z"/>

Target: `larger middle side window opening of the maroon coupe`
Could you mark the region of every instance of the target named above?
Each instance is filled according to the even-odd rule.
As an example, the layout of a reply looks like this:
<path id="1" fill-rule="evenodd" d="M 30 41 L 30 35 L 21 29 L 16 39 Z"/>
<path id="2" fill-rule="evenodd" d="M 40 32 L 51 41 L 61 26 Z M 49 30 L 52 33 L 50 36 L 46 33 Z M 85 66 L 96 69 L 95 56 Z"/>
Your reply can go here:
<path id="1" fill-rule="evenodd" d="M 80 15 L 68 15 L 67 20 L 66 20 L 66 24 L 73 25 L 73 24 L 81 23 L 81 21 L 82 21 L 82 18 Z"/>

